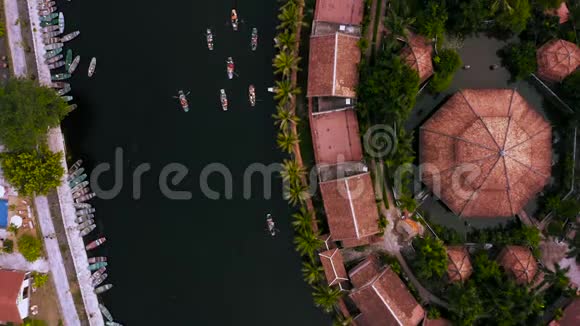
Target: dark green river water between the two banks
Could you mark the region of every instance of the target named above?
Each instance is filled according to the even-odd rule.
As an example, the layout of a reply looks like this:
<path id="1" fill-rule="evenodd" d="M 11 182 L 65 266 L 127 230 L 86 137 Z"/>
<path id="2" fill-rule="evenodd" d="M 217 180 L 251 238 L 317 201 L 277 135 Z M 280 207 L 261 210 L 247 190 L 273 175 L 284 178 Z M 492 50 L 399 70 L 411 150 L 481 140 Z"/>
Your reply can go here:
<path id="1" fill-rule="evenodd" d="M 271 58 L 275 0 L 238 1 L 60 1 L 71 42 L 81 65 L 72 79 L 77 111 L 64 122 L 72 159 L 86 167 L 113 163 L 124 151 L 124 187 L 112 200 L 94 200 L 98 232 L 108 242 L 109 281 L 115 287 L 103 298 L 126 325 L 325 325 L 302 281 L 300 259 L 292 245 L 290 210 L 274 178 L 272 199 L 242 196 L 242 175 L 254 162 L 279 162 L 274 103 L 266 93 L 273 84 Z M 234 33 L 226 25 L 232 6 L 244 21 Z M 216 34 L 215 51 L 204 32 Z M 260 31 L 260 46 L 249 49 L 250 30 Z M 88 79 L 90 57 L 98 60 Z M 225 60 L 233 56 L 238 78 L 227 80 Z M 251 109 L 247 88 L 256 85 L 258 105 Z M 219 89 L 231 109 L 222 112 Z M 172 96 L 190 90 L 191 111 L 181 111 Z M 189 174 L 176 190 L 191 200 L 164 198 L 158 186 L 161 169 L 177 162 Z M 231 200 L 205 198 L 199 173 L 219 162 L 234 178 Z M 141 199 L 132 199 L 131 175 L 150 163 Z M 103 188 L 113 174 L 100 179 Z M 214 189 L 223 189 L 218 176 Z M 281 235 L 264 232 L 264 214 L 277 216 Z M 89 238 L 88 240 L 92 240 Z"/>

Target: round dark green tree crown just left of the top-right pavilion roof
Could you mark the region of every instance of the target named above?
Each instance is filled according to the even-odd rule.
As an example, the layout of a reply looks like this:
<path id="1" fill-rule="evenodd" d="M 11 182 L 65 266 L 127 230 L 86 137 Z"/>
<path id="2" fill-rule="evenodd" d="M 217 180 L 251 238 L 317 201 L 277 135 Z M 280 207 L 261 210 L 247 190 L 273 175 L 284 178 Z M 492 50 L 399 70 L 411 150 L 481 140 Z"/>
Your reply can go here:
<path id="1" fill-rule="evenodd" d="M 532 42 L 508 44 L 500 54 L 512 78 L 516 80 L 527 78 L 538 68 L 536 47 Z"/>

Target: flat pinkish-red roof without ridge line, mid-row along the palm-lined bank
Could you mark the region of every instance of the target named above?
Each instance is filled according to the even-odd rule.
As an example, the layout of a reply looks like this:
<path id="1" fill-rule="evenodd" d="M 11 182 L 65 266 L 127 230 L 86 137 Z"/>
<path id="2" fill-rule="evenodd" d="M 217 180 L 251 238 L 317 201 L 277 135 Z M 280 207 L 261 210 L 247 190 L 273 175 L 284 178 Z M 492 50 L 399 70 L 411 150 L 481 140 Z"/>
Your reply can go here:
<path id="1" fill-rule="evenodd" d="M 310 125 L 317 164 L 362 160 L 358 120 L 352 108 L 311 114 Z"/>

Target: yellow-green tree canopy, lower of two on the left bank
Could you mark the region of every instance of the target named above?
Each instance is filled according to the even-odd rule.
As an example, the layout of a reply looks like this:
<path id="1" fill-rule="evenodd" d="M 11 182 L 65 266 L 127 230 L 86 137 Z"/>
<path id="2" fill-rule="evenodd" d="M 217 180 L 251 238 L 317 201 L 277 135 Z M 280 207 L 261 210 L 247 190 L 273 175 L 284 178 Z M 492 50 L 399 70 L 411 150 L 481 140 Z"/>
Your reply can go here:
<path id="1" fill-rule="evenodd" d="M 64 175 L 62 153 L 4 153 L 0 156 L 6 180 L 23 196 L 46 195 L 59 186 Z"/>

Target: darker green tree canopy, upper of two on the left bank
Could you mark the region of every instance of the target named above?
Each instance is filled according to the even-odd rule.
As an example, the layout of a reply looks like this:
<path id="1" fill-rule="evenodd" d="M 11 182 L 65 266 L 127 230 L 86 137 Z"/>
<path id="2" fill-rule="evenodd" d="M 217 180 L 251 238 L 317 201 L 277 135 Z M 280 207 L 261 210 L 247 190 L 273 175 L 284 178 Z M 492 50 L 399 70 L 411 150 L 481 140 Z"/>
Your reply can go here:
<path id="1" fill-rule="evenodd" d="M 67 113 L 66 102 L 54 90 L 11 79 L 0 88 L 0 142 L 10 151 L 31 151 Z"/>

